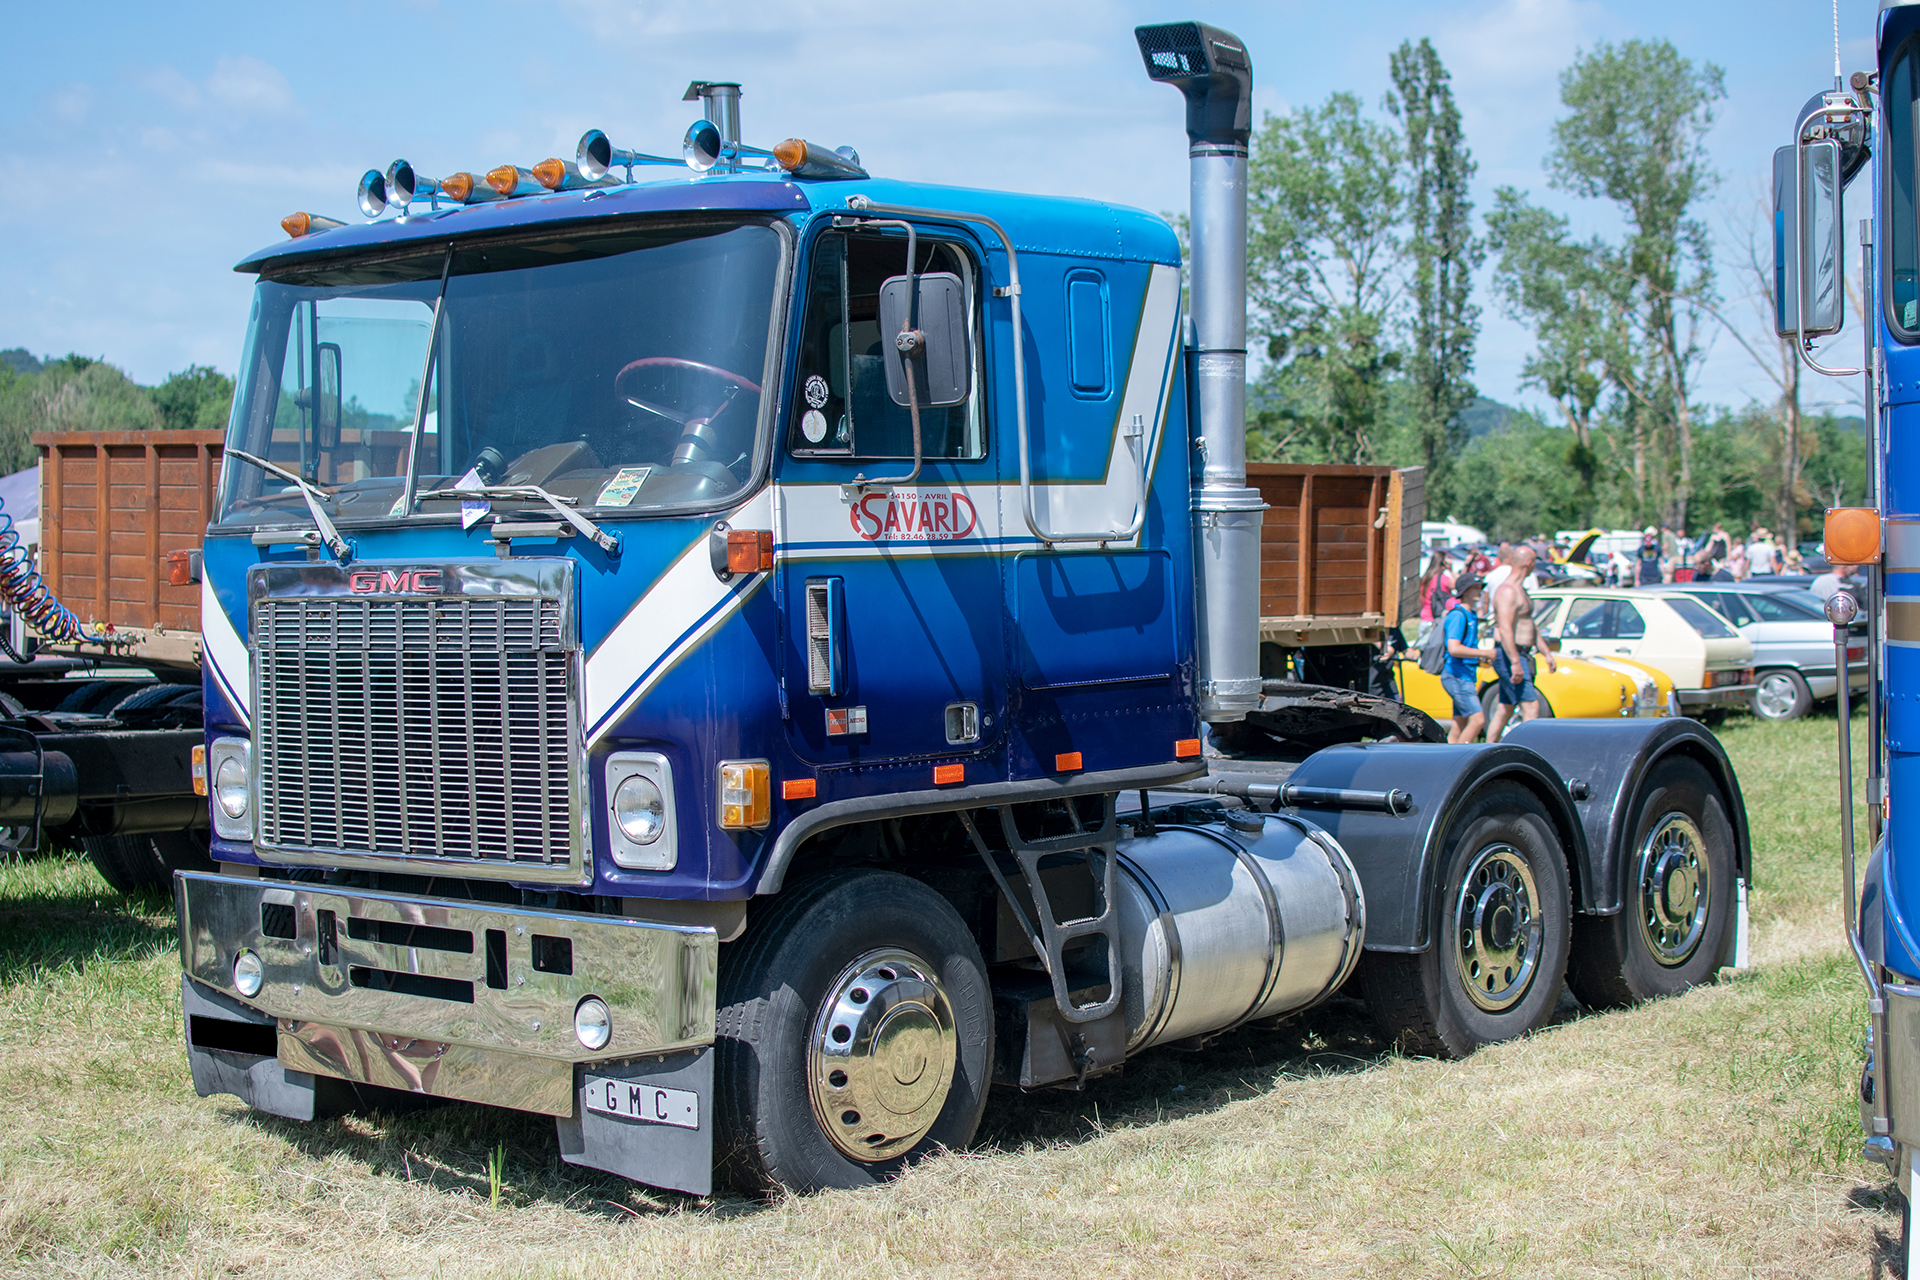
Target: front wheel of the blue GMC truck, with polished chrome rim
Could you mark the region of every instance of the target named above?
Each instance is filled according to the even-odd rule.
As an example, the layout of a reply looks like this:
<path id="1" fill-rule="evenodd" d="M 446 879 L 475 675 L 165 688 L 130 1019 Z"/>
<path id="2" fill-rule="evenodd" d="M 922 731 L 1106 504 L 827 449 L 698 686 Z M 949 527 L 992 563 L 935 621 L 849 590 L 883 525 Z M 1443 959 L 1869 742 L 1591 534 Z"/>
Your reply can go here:
<path id="1" fill-rule="evenodd" d="M 893 871 L 789 889 L 722 948 L 718 1155 L 745 1192 L 883 1182 L 979 1128 L 993 994 L 945 898 Z"/>

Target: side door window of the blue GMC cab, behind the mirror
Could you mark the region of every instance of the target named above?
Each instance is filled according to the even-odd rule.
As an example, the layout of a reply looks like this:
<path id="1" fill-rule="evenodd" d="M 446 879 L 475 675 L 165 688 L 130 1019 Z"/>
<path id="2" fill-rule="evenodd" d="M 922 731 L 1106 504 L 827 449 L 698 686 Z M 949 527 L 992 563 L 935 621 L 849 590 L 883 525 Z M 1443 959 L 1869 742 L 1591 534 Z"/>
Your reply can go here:
<path id="1" fill-rule="evenodd" d="M 970 311 L 977 307 L 973 263 L 956 246 L 920 238 L 914 271 L 956 274 Z M 914 457 L 912 413 L 887 391 L 883 353 L 893 338 L 879 332 L 879 288 L 902 274 L 906 236 L 835 230 L 814 242 L 799 376 L 787 407 L 787 451 L 795 457 Z M 972 382 L 973 393 L 958 405 L 920 407 L 922 457 L 985 457 L 977 370 Z"/>

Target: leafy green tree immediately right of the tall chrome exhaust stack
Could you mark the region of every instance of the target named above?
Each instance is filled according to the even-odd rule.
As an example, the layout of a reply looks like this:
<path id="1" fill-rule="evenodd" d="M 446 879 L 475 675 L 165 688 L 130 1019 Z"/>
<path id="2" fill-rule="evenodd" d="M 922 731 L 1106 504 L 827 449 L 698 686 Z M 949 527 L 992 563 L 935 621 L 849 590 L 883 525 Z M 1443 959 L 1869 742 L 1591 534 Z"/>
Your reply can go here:
<path id="1" fill-rule="evenodd" d="M 1379 445 L 1384 342 L 1402 303 L 1402 142 L 1359 98 L 1269 115 L 1248 159 L 1248 292 L 1271 361 L 1256 447 L 1365 462 Z"/>

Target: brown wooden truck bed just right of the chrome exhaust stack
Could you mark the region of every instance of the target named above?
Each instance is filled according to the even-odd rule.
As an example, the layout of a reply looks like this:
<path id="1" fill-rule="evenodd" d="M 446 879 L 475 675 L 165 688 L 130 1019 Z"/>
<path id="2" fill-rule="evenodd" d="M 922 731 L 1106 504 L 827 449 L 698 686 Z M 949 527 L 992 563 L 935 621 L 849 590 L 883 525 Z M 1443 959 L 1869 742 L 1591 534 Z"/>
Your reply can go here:
<path id="1" fill-rule="evenodd" d="M 1357 645 L 1419 608 L 1425 468 L 1250 462 L 1260 528 L 1260 639 Z"/>

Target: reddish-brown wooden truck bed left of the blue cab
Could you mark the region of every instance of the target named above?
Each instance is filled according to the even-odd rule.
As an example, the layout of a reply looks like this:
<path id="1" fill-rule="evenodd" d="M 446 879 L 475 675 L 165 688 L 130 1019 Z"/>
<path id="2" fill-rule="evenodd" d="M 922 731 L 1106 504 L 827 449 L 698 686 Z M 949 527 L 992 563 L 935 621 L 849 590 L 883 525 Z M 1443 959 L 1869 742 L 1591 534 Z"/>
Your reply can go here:
<path id="1" fill-rule="evenodd" d="M 40 432 L 40 576 L 94 645 L 54 652 L 200 664 L 200 583 L 167 580 L 169 551 L 198 551 L 213 518 L 223 432 Z"/>

